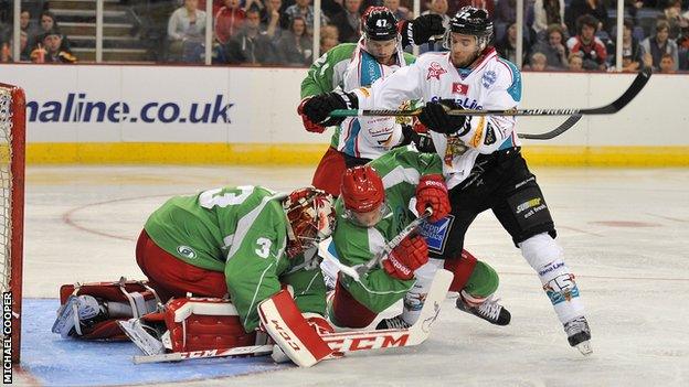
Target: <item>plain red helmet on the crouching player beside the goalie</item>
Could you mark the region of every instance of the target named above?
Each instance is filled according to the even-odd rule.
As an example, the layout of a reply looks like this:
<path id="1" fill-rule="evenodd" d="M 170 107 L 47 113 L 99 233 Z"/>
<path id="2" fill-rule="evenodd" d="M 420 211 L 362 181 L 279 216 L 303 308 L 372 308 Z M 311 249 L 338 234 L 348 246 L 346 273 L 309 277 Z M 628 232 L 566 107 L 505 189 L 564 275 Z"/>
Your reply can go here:
<path id="1" fill-rule="evenodd" d="M 374 226 L 388 212 L 383 181 L 370 165 L 350 168 L 340 187 L 344 216 L 362 227 Z"/>

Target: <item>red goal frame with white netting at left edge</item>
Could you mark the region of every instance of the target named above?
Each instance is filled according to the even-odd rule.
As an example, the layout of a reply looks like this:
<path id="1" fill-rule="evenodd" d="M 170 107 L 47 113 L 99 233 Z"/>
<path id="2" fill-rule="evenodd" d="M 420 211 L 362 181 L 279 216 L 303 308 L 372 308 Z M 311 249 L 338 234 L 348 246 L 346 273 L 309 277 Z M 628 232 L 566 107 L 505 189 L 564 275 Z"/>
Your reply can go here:
<path id="1" fill-rule="evenodd" d="M 25 109 L 24 92 L 18 86 L 0 83 L 1 329 L 3 355 L 8 355 L 7 350 L 11 348 L 13 363 L 19 362 L 21 348 Z"/>

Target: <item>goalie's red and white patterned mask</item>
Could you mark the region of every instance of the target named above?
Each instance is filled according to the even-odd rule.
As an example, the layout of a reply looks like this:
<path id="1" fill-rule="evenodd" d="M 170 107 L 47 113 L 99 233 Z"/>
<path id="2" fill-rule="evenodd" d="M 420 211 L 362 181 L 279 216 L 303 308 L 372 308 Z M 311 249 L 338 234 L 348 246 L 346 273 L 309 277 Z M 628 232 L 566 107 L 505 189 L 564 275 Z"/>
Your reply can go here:
<path id="1" fill-rule="evenodd" d="M 283 208 L 289 221 L 289 258 L 317 246 L 335 230 L 333 198 L 325 191 L 312 187 L 296 190 L 284 200 Z"/>

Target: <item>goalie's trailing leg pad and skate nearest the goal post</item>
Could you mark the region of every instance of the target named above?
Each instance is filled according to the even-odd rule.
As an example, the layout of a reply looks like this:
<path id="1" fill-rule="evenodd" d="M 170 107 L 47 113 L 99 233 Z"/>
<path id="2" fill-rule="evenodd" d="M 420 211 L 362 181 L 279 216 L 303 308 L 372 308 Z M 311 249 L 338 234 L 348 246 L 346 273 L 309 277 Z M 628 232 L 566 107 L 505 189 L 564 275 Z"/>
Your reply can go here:
<path id="1" fill-rule="evenodd" d="M 126 340 L 117 322 L 155 312 L 159 302 L 147 281 L 124 277 L 114 282 L 63 284 L 52 331 L 63 337 Z"/>

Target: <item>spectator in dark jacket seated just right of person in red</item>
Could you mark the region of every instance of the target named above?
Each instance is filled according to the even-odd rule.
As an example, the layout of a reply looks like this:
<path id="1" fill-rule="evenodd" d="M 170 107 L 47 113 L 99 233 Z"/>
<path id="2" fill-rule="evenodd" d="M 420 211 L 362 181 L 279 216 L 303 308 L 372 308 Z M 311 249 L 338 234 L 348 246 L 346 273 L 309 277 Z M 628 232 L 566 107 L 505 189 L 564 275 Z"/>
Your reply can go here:
<path id="1" fill-rule="evenodd" d="M 246 11 L 246 21 L 236 35 L 225 45 L 225 62 L 232 64 L 262 65 L 276 63 L 271 37 L 261 29 L 261 15 L 256 10 Z"/>

